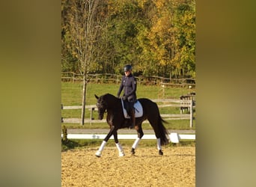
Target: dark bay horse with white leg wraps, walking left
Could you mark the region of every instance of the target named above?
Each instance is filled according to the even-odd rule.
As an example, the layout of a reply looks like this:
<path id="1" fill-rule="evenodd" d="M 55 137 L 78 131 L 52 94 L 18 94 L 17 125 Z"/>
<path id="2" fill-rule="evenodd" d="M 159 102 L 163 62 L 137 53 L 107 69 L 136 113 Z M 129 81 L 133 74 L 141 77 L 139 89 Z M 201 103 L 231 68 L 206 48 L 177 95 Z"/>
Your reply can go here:
<path id="1" fill-rule="evenodd" d="M 130 126 L 130 119 L 124 117 L 123 107 L 121 99 L 113 96 L 112 94 L 106 93 L 103 96 L 95 95 L 97 99 L 97 108 L 99 114 L 99 120 L 103 119 L 105 111 L 107 112 L 106 121 L 109 123 L 109 133 L 106 135 L 106 138 L 103 140 L 99 150 L 97 150 L 96 156 L 100 157 L 101 153 L 107 143 L 109 138 L 114 135 L 115 144 L 119 150 L 119 156 L 124 156 L 124 150 L 121 147 L 121 144 L 118 142 L 118 129 L 128 128 Z M 132 145 L 131 153 L 135 154 L 135 148 L 138 146 L 139 141 L 144 135 L 141 124 L 144 120 L 148 120 L 150 125 L 153 127 L 153 130 L 156 135 L 157 148 L 159 150 L 159 155 L 162 153 L 162 145 L 169 143 L 168 131 L 165 129 L 163 123 L 166 123 L 162 119 L 159 113 L 159 108 L 156 105 L 156 102 L 151 101 L 150 99 L 138 99 L 141 102 L 143 108 L 143 115 L 141 117 L 136 117 L 135 119 L 135 129 L 138 134 L 138 138 L 135 139 L 134 144 Z"/>

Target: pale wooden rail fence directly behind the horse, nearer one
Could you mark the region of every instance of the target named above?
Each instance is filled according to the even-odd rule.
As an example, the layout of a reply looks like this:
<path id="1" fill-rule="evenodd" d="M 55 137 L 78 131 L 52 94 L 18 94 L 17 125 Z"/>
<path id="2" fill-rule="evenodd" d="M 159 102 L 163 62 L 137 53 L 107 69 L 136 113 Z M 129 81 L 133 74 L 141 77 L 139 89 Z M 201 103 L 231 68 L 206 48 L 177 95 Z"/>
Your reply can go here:
<path id="1" fill-rule="evenodd" d="M 165 120 L 190 120 L 189 126 L 192 128 L 193 126 L 193 107 L 195 107 L 195 102 L 193 102 L 192 99 L 189 100 L 183 100 L 183 99 L 152 99 L 153 102 L 162 102 L 164 104 L 158 105 L 159 108 L 162 107 L 179 107 L 180 108 L 180 114 L 161 114 L 162 117 L 165 117 Z M 165 104 L 167 103 L 167 104 Z M 81 105 L 76 106 L 63 106 L 61 105 L 61 109 L 79 109 L 82 108 Z M 94 111 L 97 110 L 96 105 L 86 105 L 85 108 L 88 108 L 88 110 L 91 113 L 90 119 L 85 119 L 85 123 L 102 123 L 102 120 L 94 120 Z M 184 108 L 187 108 L 189 111 L 189 114 L 183 114 Z M 62 123 L 80 123 L 81 118 L 62 118 Z M 144 123 L 149 123 L 147 120 L 144 121 Z"/>

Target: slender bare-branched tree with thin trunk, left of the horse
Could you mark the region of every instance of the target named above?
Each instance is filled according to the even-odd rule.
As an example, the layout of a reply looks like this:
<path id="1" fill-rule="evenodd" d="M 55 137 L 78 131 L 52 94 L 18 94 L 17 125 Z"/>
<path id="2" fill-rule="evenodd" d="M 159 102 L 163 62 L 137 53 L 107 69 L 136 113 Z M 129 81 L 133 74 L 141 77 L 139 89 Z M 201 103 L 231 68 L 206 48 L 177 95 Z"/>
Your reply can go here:
<path id="1" fill-rule="evenodd" d="M 67 13 L 69 22 L 67 37 L 70 43 L 67 49 L 79 61 L 79 72 L 83 77 L 81 124 L 85 120 L 85 96 L 88 85 L 88 73 L 97 56 L 97 34 L 100 31 L 97 19 L 97 5 L 100 0 L 69 1 L 70 11 Z"/>

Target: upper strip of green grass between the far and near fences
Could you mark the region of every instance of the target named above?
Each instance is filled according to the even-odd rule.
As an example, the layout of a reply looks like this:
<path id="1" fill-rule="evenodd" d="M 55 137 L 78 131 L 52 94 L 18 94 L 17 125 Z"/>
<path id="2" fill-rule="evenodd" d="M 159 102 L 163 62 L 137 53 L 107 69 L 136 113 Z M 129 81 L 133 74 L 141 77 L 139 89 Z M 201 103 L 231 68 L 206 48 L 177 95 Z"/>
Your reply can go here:
<path id="1" fill-rule="evenodd" d="M 105 93 L 111 93 L 114 96 L 118 93 L 117 84 L 88 84 L 86 105 L 93 105 L 96 102 L 94 94 L 101 96 Z M 138 85 L 137 97 L 148 99 L 180 99 L 181 95 L 195 92 L 195 89 L 189 88 L 165 88 L 162 91 L 160 86 Z M 82 98 L 82 83 L 79 82 L 61 82 L 61 103 L 63 105 L 80 105 Z"/>

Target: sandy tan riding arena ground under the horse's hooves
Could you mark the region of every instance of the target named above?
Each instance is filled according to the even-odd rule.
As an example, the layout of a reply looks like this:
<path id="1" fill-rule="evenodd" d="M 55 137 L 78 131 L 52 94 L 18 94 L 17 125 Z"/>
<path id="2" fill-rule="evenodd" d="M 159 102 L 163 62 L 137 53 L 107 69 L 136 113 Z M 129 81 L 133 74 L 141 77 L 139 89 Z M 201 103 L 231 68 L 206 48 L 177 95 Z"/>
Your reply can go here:
<path id="1" fill-rule="evenodd" d="M 195 186 L 195 147 L 138 147 L 135 156 L 124 147 L 106 146 L 61 153 L 61 186 Z"/>

